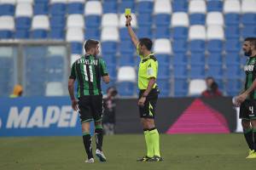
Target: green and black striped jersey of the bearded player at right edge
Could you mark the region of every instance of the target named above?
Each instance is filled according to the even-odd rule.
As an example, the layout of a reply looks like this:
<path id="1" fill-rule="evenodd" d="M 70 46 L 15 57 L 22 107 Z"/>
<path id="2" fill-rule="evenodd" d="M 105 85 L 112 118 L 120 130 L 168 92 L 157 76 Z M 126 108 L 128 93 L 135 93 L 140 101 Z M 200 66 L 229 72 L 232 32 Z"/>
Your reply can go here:
<path id="1" fill-rule="evenodd" d="M 256 78 L 256 56 L 249 57 L 247 59 L 247 64 L 244 66 L 244 71 L 246 73 L 245 90 L 251 87 L 253 81 Z M 253 90 L 247 99 L 256 99 L 256 90 Z"/>

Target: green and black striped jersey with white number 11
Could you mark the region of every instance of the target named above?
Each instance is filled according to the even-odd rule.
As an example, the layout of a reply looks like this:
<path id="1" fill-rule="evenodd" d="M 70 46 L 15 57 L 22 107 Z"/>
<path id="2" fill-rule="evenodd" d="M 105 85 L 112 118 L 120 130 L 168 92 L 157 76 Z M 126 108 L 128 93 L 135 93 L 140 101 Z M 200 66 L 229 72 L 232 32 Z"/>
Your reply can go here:
<path id="1" fill-rule="evenodd" d="M 77 79 L 77 97 L 80 98 L 102 94 L 101 78 L 104 76 L 108 76 L 104 60 L 87 54 L 73 63 L 69 78 Z"/>

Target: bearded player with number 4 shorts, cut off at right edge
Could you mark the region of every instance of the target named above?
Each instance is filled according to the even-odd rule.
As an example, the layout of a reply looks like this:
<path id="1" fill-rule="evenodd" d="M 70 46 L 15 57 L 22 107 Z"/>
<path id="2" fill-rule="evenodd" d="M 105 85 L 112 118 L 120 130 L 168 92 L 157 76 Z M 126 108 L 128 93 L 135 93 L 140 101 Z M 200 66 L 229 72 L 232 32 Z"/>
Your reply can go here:
<path id="1" fill-rule="evenodd" d="M 242 49 L 248 56 L 244 67 L 246 82 L 244 92 L 236 96 L 235 102 L 237 106 L 240 106 L 239 117 L 249 146 L 247 158 L 256 158 L 256 38 L 247 37 Z"/>

